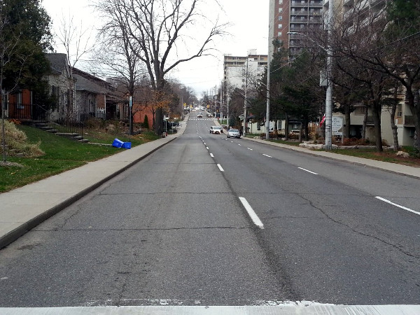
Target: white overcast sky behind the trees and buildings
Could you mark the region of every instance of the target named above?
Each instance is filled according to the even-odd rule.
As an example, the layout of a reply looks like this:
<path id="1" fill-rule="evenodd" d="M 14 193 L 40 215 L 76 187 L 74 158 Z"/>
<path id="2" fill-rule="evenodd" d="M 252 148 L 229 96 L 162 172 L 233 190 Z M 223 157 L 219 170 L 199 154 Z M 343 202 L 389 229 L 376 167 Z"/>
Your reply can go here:
<path id="1" fill-rule="evenodd" d="M 178 78 L 183 85 L 193 87 L 199 98 L 202 92 L 210 92 L 211 88 L 221 85 L 224 54 L 245 56 L 248 50 L 256 49 L 258 54 L 267 55 L 269 0 L 223 0 L 220 2 L 222 2 L 224 12 L 215 5 L 211 8 L 202 8 L 202 10 L 218 14 L 220 22 L 230 22 L 232 27 L 227 31 L 231 36 L 215 42 L 219 50 L 216 52 L 216 57 L 193 59 L 180 64 L 170 73 L 171 77 Z M 66 17 L 73 15 L 75 22 L 83 21 L 83 28 L 95 27 L 94 23 L 98 23 L 98 19 L 89 7 L 90 3 L 92 3 L 90 0 L 43 0 L 42 6 L 52 18 L 53 29 L 57 32 L 63 14 Z M 255 3 L 258 4 L 255 5 Z M 98 26 L 96 24 L 96 27 Z M 194 37 L 195 34 L 190 34 L 190 36 Z M 65 52 L 64 48 L 59 46 L 55 49 L 57 52 Z M 76 66 L 87 71 L 80 64 Z"/>

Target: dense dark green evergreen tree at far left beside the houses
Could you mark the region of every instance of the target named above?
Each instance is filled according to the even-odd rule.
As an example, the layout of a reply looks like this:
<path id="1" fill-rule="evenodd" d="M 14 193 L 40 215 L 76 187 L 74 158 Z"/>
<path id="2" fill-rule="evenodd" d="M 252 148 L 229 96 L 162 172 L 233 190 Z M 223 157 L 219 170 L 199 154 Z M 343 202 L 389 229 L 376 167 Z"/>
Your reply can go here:
<path id="1" fill-rule="evenodd" d="M 41 78 L 50 65 L 50 17 L 39 0 L 3 0 L 0 3 L 2 88 L 8 92 L 28 88 L 45 94 Z"/>

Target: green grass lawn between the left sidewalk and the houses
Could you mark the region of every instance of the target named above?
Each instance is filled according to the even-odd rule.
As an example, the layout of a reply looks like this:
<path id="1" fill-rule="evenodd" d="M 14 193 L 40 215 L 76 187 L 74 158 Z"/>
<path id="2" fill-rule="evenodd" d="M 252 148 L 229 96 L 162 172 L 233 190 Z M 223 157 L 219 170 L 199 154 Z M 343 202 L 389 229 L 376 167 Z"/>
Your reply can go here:
<path id="1" fill-rule="evenodd" d="M 38 158 L 8 158 L 8 162 L 19 163 L 22 167 L 0 167 L 0 193 L 80 167 L 87 162 L 105 158 L 122 150 L 112 146 L 78 142 L 25 125 L 18 125 L 18 128 L 25 132 L 29 143 L 36 144 L 41 141 L 40 147 L 45 155 Z M 121 141 L 130 141 L 132 146 L 158 139 L 158 136 L 152 132 L 144 132 L 130 138 L 97 130 L 86 130 L 85 133 L 85 138 L 99 144 L 112 144 L 113 139 L 117 137 Z"/>

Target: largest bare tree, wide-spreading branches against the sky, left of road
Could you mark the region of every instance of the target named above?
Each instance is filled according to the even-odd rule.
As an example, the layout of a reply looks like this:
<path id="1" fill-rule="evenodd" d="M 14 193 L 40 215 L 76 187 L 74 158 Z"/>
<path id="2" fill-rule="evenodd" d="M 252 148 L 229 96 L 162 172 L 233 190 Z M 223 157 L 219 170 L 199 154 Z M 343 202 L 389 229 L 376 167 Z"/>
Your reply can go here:
<path id="1" fill-rule="evenodd" d="M 146 66 L 153 89 L 162 91 L 165 76 L 182 62 L 211 55 L 211 42 L 224 34 L 226 25 L 212 24 L 207 36 L 200 43 L 190 45 L 190 50 L 181 51 L 178 44 L 188 38 L 189 27 L 197 28 L 207 18 L 198 7 L 202 0 L 111 0 L 116 3 L 121 16 L 125 17 L 125 31 L 139 45 L 137 56 Z M 109 0 L 100 0 L 102 6 Z M 132 41 L 130 41 L 132 43 Z M 197 47 L 197 48 L 195 48 Z M 160 93 L 158 93 L 159 95 Z M 162 134 L 163 111 L 156 110 L 155 131 Z"/>

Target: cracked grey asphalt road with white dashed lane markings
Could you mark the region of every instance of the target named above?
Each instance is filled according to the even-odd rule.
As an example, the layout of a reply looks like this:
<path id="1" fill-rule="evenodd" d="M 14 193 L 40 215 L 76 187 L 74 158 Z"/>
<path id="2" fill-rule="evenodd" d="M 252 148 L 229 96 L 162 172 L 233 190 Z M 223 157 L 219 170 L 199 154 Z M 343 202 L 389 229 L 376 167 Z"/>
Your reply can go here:
<path id="1" fill-rule="evenodd" d="M 0 307 L 419 303 L 419 180 L 212 124 L 0 251 Z"/>

